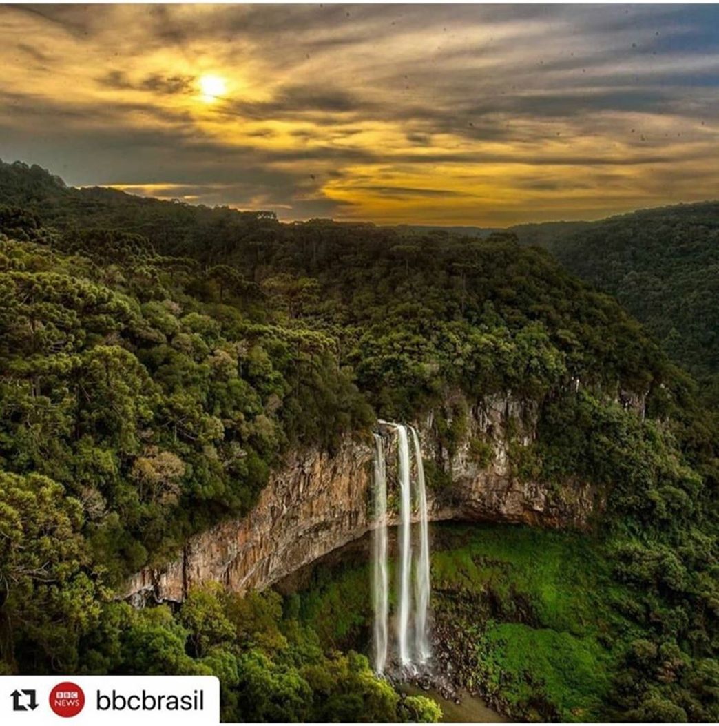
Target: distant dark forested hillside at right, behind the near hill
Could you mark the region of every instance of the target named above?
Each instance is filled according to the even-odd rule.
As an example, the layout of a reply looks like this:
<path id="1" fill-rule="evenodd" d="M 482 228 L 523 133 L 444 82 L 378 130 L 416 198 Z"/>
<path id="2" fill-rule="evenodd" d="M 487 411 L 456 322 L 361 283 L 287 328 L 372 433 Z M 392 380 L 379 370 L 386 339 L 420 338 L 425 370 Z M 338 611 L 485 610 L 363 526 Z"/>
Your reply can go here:
<path id="1" fill-rule="evenodd" d="M 719 203 L 646 209 L 599 222 L 529 224 L 571 272 L 615 295 L 719 405 Z"/>

